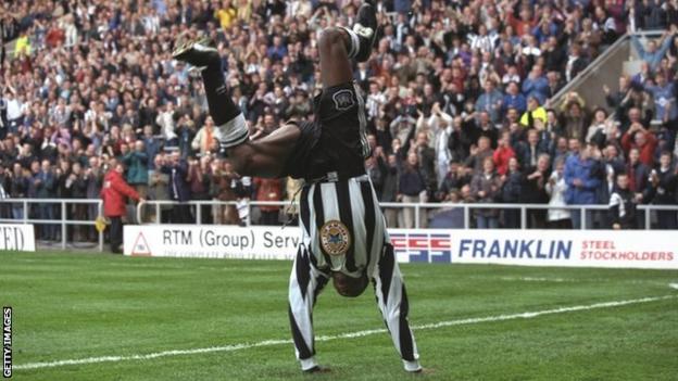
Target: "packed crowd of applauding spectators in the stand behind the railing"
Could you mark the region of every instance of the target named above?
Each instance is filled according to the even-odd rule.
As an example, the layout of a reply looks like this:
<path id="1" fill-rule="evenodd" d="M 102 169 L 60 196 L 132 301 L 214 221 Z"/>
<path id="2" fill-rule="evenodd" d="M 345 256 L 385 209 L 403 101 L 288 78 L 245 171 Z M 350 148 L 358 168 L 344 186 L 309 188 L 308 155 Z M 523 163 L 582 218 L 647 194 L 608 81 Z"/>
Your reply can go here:
<path id="1" fill-rule="evenodd" d="M 312 118 L 317 31 L 351 25 L 359 4 L 4 1 L 0 198 L 97 199 L 115 161 L 148 200 L 293 199 L 297 180 L 233 172 L 198 72 L 172 60 L 173 43 L 186 30 L 215 41 L 231 94 L 259 139 L 289 118 Z M 382 202 L 611 205 L 585 216 L 589 228 L 637 228 L 644 218 L 637 204 L 678 204 L 678 1 L 392 0 L 379 9 L 378 48 L 354 73 L 373 148 L 366 168 Z M 606 105 L 585 104 L 575 92 L 549 102 L 619 36 L 641 29 L 665 31 L 646 45 L 633 38 L 642 68 L 604 89 Z M 200 212 L 202 223 L 243 218 L 235 206 Z M 262 206 L 256 220 L 280 224 L 284 212 L 293 214 Z M 55 219 L 61 211 L 30 213 Z M 67 213 L 98 214 L 80 205 Z M 460 213 L 429 211 L 422 225 L 460 227 Z M 23 218 L 23 206 L 2 204 L 0 214 Z M 163 205 L 158 217 L 190 223 L 196 214 L 185 204 Z M 391 227 L 416 219 L 412 208 L 386 208 L 386 216 Z M 582 220 L 578 211 L 557 208 L 530 209 L 527 218 L 544 228 Z M 653 219 L 678 227 L 675 212 Z M 476 208 L 472 223 L 522 221 L 517 209 Z M 95 238 L 93 230 L 75 230 Z M 55 226 L 40 231 L 46 240 L 59 234 Z"/>

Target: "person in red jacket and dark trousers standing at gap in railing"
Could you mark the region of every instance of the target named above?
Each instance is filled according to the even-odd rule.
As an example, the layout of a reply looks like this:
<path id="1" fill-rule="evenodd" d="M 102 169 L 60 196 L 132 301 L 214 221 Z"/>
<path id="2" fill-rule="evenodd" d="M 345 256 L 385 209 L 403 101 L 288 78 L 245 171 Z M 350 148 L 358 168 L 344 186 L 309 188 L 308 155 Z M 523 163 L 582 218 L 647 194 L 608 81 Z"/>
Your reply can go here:
<path id="1" fill-rule="evenodd" d="M 125 182 L 123 174 L 125 167 L 115 158 L 111 160 L 111 169 L 103 178 L 101 187 L 101 199 L 103 200 L 103 215 L 111 220 L 111 251 L 121 253 L 123 243 L 123 221 L 122 216 L 127 214 L 127 198 L 140 201 L 139 193 Z"/>

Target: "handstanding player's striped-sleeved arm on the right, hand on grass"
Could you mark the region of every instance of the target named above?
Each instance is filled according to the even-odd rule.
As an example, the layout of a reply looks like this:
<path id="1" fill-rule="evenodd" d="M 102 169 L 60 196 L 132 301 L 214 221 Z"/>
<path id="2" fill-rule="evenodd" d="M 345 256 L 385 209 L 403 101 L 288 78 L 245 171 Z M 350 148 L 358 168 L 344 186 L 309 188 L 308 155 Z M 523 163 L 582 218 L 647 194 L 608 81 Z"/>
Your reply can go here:
<path id="1" fill-rule="evenodd" d="M 373 271 L 373 282 L 377 304 L 405 370 L 420 371 L 419 354 L 407 320 L 410 313 L 407 292 L 390 243 L 384 245 L 381 256 Z"/>

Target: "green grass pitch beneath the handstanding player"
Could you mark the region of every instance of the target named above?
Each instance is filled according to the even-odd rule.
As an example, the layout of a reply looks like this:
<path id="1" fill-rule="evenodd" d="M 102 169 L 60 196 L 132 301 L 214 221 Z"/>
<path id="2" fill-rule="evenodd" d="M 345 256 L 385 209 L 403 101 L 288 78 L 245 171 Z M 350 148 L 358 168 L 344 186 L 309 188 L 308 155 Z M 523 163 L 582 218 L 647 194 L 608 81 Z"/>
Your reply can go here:
<path id="1" fill-rule="evenodd" d="M 401 265 L 411 323 L 651 296 L 648 303 L 415 330 L 431 372 L 407 374 L 386 333 L 316 343 L 301 374 L 289 343 L 21 369 L 22 365 L 289 340 L 291 263 L 0 253 L 16 380 L 678 380 L 678 271 Z M 372 288 L 318 299 L 316 334 L 384 328 Z"/>

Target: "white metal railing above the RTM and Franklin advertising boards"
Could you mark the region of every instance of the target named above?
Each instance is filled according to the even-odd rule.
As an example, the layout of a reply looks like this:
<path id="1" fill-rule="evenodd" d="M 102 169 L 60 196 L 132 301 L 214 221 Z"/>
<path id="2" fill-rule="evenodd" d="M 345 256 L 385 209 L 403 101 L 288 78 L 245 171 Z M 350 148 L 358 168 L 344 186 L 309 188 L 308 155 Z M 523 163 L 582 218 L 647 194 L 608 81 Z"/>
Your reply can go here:
<path id="1" fill-rule="evenodd" d="M 184 203 L 179 203 L 176 201 L 156 201 L 156 200 L 147 200 L 140 202 L 137 205 L 137 220 L 140 224 L 145 224 L 147 221 L 143 220 L 143 208 L 145 206 L 153 206 L 155 208 L 155 221 L 154 224 L 161 224 L 161 206 L 162 205 L 190 205 L 196 206 L 196 220 L 202 221 L 202 207 L 201 206 L 234 206 L 234 207 L 247 207 L 248 213 L 244 218 L 246 226 L 250 226 L 252 207 L 256 206 L 280 206 L 281 208 L 289 206 L 297 206 L 297 204 L 290 203 L 289 201 L 214 201 L 214 200 L 205 200 L 205 201 L 188 201 Z M 487 204 L 487 203 L 478 203 L 478 204 L 452 204 L 452 203 L 400 203 L 400 202 L 384 202 L 379 204 L 382 208 L 414 208 L 414 227 L 419 228 L 422 226 L 420 221 L 420 212 L 426 209 L 463 209 L 464 213 L 464 229 L 470 228 L 470 218 L 473 211 L 478 209 L 497 209 L 497 211 L 505 211 L 505 209 L 518 209 L 520 212 L 520 229 L 527 229 L 527 215 L 528 211 L 535 209 L 554 209 L 554 211 L 579 211 L 580 214 L 580 228 L 587 229 L 587 213 L 590 212 L 608 212 L 610 207 L 607 205 L 564 205 L 564 206 L 552 206 L 549 204 Z M 638 205 L 638 209 L 644 212 L 644 229 L 651 229 L 652 221 L 652 213 L 658 211 L 673 211 L 678 212 L 678 205 Z M 589 218 L 592 219 L 592 218 Z"/>

